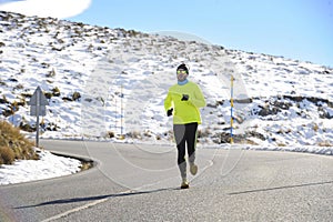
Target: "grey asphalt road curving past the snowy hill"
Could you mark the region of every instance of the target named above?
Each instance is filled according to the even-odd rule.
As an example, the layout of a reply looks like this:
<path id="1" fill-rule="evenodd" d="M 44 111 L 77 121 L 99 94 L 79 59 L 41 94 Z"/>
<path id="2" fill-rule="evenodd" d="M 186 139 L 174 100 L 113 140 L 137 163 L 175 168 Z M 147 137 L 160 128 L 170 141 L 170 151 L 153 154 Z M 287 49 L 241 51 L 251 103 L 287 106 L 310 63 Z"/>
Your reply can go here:
<path id="1" fill-rule="evenodd" d="M 73 175 L 0 186 L 0 221 L 332 221 L 333 158 L 198 149 L 199 173 L 180 190 L 175 149 L 41 141 L 93 159 Z"/>

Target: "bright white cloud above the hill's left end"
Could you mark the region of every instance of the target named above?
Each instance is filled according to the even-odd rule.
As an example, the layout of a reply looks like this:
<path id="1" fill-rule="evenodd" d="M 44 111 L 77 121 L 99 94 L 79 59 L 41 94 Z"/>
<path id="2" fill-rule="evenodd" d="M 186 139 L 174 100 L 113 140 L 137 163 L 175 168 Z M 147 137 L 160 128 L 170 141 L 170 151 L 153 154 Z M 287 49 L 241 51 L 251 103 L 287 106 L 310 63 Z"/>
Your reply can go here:
<path id="1" fill-rule="evenodd" d="M 78 16 L 88 9 L 92 0 L 26 0 L 0 4 L 0 10 L 26 16 L 53 17 L 65 19 Z"/>

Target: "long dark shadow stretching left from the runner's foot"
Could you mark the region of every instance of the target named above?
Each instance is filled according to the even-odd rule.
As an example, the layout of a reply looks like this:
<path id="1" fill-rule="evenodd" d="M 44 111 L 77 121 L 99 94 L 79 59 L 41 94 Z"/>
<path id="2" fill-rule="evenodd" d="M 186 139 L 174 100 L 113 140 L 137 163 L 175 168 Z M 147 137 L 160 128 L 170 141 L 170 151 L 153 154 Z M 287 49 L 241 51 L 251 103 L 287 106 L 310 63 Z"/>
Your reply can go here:
<path id="1" fill-rule="evenodd" d="M 158 189 L 158 190 L 151 190 L 151 191 L 128 191 L 128 192 L 108 194 L 108 195 L 61 199 L 61 200 L 48 201 L 48 202 L 34 204 L 34 205 L 18 206 L 18 208 L 14 208 L 14 209 L 27 209 L 27 208 L 37 208 L 37 206 L 42 206 L 42 205 L 77 203 L 77 202 L 85 202 L 85 201 L 99 201 L 99 200 L 109 199 L 109 198 L 122 198 L 122 196 L 131 196 L 131 195 L 141 195 L 141 194 L 147 194 L 147 193 L 157 193 L 157 192 L 172 191 L 172 190 L 180 190 L 180 188 L 165 188 L 165 189 Z"/>

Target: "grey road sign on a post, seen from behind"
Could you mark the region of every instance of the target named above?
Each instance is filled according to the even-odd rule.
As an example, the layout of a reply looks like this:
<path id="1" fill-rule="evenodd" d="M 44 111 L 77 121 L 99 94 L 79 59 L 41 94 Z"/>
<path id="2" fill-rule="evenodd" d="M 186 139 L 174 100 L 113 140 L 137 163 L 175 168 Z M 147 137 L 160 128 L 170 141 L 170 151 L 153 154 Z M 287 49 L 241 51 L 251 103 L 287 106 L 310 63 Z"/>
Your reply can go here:
<path id="1" fill-rule="evenodd" d="M 30 107 L 30 115 L 37 117 L 36 120 L 36 147 L 39 148 L 39 115 L 46 115 L 47 114 L 47 109 L 46 105 L 49 105 L 48 99 L 46 95 L 42 93 L 40 87 L 38 87 L 30 101 L 29 101 Z"/>

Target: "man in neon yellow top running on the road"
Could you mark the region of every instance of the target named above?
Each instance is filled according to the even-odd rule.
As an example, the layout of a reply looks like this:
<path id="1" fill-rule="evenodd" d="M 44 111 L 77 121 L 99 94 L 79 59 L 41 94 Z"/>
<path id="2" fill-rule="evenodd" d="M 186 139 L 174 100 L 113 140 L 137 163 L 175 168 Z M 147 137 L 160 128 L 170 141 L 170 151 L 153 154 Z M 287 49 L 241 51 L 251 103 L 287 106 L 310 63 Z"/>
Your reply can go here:
<path id="1" fill-rule="evenodd" d="M 182 63 L 176 68 L 178 83 L 169 89 L 164 100 L 167 115 L 173 115 L 173 133 L 178 149 L 178 165 L 182 183 L 181 189 L 188 189 L 186 160 L 188 148 L 190 172 L 195 175 L 195 143 L 198 124 L 201 124 L 199 108 L 205 107 L 205 100 L 198 84 L 188 80 L 189 69 Z"/>

